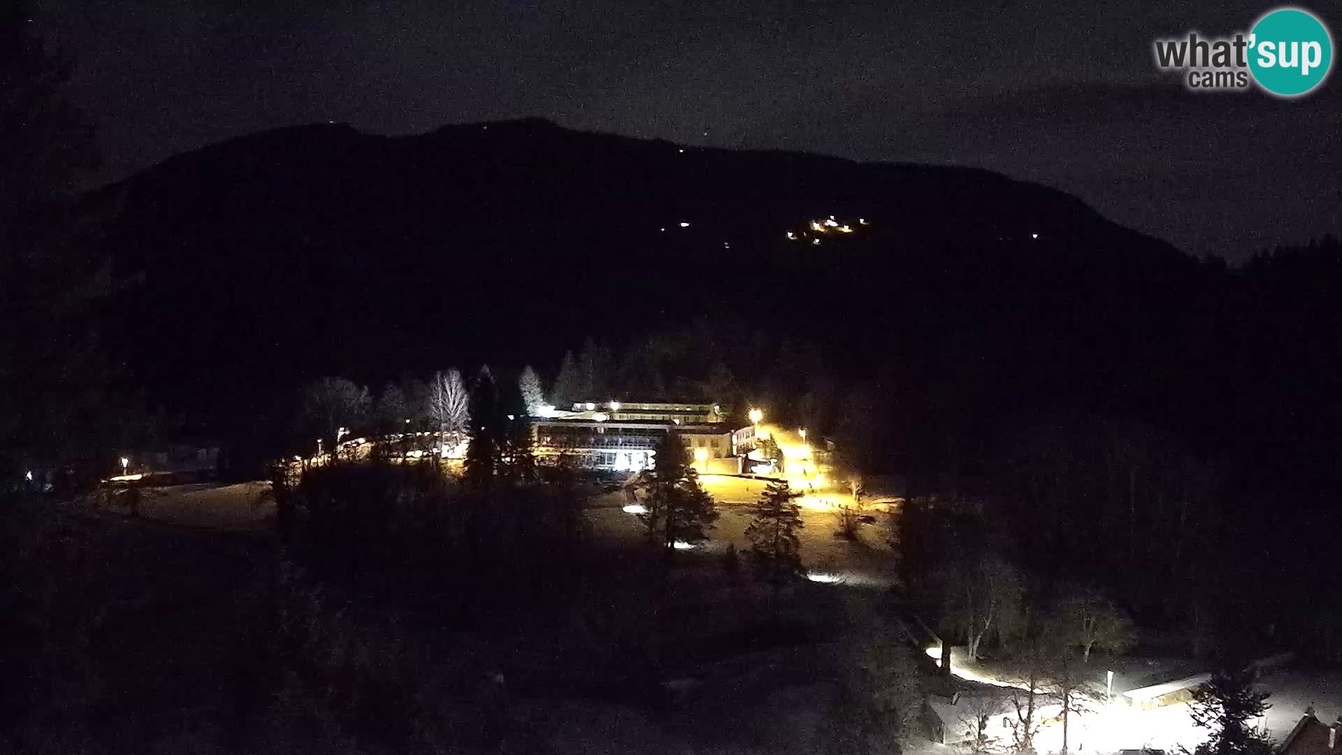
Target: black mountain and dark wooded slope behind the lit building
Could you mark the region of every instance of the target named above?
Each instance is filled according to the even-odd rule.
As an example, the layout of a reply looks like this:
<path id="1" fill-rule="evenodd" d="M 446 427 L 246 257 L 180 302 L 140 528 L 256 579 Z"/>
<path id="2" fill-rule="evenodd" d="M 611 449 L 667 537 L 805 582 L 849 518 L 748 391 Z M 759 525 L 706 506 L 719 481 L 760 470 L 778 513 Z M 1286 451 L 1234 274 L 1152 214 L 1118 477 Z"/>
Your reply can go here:
<path id="1" fill-rule="evenodd" d="M 985 171 L 535 120 L 282 129 L 89 202 L 121 208 L 109 251 L 140 281 L 109 314 L 129 379 L 239 474 L 293 453 L 305 380 L 550 372 L 596 337 L 633 355 L 625 395 L 734 382 L 827 418 L 868 473 L 996 501 L 1031 568 L 1155 621 L 1217 580 L 1294 610 L 1278 586 L 1331 553 L 1284 524 L 1339 482 L 1331 239 L 1233 269 Z"/>

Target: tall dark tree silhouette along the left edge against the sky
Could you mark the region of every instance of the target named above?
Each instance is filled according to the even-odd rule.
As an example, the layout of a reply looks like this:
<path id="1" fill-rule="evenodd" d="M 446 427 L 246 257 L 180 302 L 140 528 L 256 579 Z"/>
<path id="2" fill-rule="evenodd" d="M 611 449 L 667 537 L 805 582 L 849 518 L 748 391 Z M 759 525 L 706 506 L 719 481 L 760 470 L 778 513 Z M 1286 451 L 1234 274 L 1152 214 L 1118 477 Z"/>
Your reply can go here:
<path id="1" fill-rule="evenodd" d="M 74 193 L 97 167 L 67 95 L 71 66 L 34 36 L 27 3 L 0 4 L 0 477 L 97 465 L 129 441 L 98 314 L 117 287 L 95 214 Z M 99 211 L 98 215 L 110 215 Z M 126 416 L 117 416 L 126 414 Z"/>

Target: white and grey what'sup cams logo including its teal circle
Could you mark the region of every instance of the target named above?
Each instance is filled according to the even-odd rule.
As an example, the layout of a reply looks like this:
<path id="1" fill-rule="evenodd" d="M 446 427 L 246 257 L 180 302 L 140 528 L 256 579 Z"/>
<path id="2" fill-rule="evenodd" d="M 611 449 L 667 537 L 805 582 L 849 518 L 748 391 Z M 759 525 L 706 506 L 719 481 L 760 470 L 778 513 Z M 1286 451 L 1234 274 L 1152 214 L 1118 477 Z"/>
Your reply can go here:
<path id="1" fill-rule="evenodd" d="M 1318 89 L 1333 69 L 1329 28 L 1302 8 L 1270 11 L 1248 34 L 1157 39 L 1154 52 L 1155 66 L 1180 71 L 1193 91 L 1257 85 L 1276 97 L 1300 97 Z"/>

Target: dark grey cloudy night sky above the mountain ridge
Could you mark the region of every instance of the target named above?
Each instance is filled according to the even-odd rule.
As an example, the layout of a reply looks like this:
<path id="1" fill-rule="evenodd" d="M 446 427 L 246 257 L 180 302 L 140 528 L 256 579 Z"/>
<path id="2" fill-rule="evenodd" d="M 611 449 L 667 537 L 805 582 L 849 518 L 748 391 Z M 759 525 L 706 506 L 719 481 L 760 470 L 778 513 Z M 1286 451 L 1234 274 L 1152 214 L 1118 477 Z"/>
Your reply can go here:
<path id="1" fill-rule="evenodd" d="M 272 126 L 373 133 L 544 116 L 577 129 L 977 165 L 1079 195 L 1194 254 L 1342 231 L 1342 78 L 1192 94 L 1151 39 L 1270 4 L 467 4 L 38 0 L 107 172 Z M 1342 12 L 1319 12 L 1342 38 Z M 1331 12 L 1330 12 L 1331 11 Z M 1334 63 L 1334 69 L 1337 63 Z"/>

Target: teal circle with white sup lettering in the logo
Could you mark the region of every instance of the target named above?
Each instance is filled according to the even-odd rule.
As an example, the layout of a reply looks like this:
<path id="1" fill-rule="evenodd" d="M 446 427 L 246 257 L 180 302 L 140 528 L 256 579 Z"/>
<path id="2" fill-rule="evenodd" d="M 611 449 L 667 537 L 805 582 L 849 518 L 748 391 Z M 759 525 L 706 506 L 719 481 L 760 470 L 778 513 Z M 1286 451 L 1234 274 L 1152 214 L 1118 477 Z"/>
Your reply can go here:
<path id="1" fill-rule="evenodd" d="M 1323 83 L 1333 67 L 1333 36 L 1314 13 L 1278 8 L 1249 32 L 1249 71 L 1278 97 L 1299 97 Z"/>

